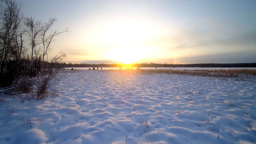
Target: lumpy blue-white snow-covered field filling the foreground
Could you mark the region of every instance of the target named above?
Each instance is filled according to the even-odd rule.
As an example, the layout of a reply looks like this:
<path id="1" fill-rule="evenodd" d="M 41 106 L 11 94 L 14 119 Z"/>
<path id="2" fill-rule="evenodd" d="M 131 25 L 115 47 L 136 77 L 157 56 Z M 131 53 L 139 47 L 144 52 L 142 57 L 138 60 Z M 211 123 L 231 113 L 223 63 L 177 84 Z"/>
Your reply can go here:
<path id="1" fill-rule="evenodd" d="M 0 143 L 255 142 L 255 79 L 65 70 L 58 96 L 0 101 Z"/>

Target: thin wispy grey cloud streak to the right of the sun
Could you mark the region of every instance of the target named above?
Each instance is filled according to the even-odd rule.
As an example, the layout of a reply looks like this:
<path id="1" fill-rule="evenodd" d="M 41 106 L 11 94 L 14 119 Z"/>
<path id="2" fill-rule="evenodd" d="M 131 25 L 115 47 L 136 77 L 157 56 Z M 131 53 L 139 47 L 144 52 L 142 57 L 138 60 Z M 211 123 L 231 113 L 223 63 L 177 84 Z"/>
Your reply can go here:
<path id="1" fill-rule="evenodd" d="M 192 35 L 194 34 L 194 35 Z M 169 41 L 168 41 L 169 40 Z M 222 37 L 221 34 L 217 36 L 211 36 L 210 34 L 202 34 L 202 32 L 188 32 L 187 34 L 177 34 L 177 36 L 169 36 L 161 40 L 165 43 L 172 43 L 168 48 L 174 49 L 191 49 L 191 48 L 209 48 L 212 46 L 222 46 L 232 49 L 230 46 L 256 45 L 256 32 L 247 32 L 242 34 L 236 34 L 234 36 Z"/>

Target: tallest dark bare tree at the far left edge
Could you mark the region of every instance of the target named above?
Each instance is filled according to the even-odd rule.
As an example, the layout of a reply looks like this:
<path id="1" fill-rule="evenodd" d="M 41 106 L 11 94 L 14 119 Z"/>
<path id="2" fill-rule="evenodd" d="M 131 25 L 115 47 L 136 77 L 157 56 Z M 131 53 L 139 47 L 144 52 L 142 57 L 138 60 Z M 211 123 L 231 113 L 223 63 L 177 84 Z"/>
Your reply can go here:
<path id="1" fill-rule="evenodd" d="M 21 36 L 19 28 L 22 18 L 21 4 L 14 0 L 0 0 L 0 81 L 5 81 L 7 85 L 14 79 L 13 72 L 8 71 L 7 66 L 17 60 L 22 49 L 15 42 Z"/>

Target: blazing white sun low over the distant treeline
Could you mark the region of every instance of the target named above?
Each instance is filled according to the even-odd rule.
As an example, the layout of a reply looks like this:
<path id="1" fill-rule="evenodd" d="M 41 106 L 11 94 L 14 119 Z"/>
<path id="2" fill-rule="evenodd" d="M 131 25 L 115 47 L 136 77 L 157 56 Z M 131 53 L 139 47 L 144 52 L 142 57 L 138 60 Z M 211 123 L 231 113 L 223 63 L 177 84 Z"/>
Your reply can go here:
<path id="1" fill-rule="evenodd" d="M 145 58 L 144 48 L 137 46 L 124 46 L 113 49 L 109 52 L 108 58 L 123 64 L 133 64 L 138 60 Z"/>

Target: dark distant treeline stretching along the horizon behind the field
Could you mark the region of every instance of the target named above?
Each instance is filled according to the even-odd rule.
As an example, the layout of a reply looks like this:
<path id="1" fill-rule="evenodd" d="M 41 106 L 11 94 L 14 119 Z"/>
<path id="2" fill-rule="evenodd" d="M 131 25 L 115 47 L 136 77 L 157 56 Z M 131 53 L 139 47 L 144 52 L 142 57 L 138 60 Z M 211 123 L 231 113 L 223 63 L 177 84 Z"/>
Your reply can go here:
<path id="1" fill-rule="evenodd" d="M 136 63 L 136 64 L 85 64 L 85 63 L 60 63 L 60 67 L 64 68 L 93 68 L 93 67 L 140 67 L 140 68 L 183 68 L 183 67 L 191 67 L 191 68 L 224 68 L 224 67 L 256 67 L 256 63 L 237 63 L 237 64 L 156 64 L 156 63 Z"/>

